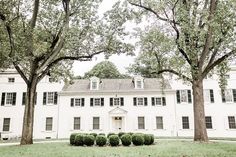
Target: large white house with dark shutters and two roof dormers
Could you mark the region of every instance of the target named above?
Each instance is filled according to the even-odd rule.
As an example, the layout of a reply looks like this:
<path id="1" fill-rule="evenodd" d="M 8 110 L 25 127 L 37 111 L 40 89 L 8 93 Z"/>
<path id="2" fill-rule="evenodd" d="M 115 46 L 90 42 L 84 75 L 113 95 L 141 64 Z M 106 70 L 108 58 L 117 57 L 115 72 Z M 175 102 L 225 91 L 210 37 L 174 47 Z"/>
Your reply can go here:
<path id="1" fill-rule="evenodd" d="M 204 80 L 210 137 L 236 137 L 236 67 L 223 92 L 216 76 Z M 1 138 L 21 136 L 26 85 L 14 70 L 0 73 Z M 34 138 L 68 138 L 73 132 L 145 132 L 193 136 L 191 87 L 153 78 L 74 80 L 45 77 L 37 86 Z"/>

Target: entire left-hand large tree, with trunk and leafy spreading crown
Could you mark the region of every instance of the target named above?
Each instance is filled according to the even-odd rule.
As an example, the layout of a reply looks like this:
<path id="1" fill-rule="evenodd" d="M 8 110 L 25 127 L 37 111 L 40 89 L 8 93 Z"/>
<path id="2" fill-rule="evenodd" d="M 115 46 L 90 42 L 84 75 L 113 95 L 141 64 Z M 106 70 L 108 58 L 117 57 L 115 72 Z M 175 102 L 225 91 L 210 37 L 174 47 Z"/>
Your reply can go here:
<path id="1" fill-rule="evenodd" d="M 119 36 L 120 17 L 98 15 L 101 0 L 1 0 L 0 54 L 27 85 L 21 145 L 33 143 L 34 102 L 38 82 L 46 75 L 63 76 L 73 60 L 87 61 L 99 53 L 130 52 Z M 104 21 L 105 20 L 105 21 Z"/>

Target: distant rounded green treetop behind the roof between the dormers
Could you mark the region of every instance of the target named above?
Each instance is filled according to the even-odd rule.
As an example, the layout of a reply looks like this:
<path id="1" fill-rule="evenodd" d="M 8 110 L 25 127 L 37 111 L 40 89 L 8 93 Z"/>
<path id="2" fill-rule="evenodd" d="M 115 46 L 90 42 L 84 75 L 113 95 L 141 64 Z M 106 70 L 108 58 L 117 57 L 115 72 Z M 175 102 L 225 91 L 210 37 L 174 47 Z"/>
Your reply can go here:
<path id="1" fill-rule="evenodd" d="M 96 76 L 98 78 L 124 78 L 118 70 L 117 67 L 110 61 L 102 61 L 96 64 L 90 71 L 84 74 L 85 78 L 90 78 Z"/>

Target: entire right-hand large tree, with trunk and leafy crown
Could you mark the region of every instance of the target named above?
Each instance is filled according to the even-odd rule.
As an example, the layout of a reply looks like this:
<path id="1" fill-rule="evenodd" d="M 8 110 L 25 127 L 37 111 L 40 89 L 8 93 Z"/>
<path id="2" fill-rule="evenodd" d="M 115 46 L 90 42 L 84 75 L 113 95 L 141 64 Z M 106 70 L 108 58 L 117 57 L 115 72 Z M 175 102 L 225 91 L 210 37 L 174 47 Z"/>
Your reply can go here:
<path id="1" fill-rule="evenodd" d="M 216 68 L 226 72 L 227 62 L 235 57 L 236 1 L 127 0 L 126 5 L 138 22 L 145 23 L 145 29 L 139 29 L 145 36 L 138 35 L 138 45 L 141 52 L 157 55 L 161 64 L 155 72 L 173 73 L 191 83 L 194 140 L 208 141 L 203 79 Z M 163 50 L 157 50 L 162 42 L 159 32 L 174 41 L 173 49 L 163 55 Z"/>

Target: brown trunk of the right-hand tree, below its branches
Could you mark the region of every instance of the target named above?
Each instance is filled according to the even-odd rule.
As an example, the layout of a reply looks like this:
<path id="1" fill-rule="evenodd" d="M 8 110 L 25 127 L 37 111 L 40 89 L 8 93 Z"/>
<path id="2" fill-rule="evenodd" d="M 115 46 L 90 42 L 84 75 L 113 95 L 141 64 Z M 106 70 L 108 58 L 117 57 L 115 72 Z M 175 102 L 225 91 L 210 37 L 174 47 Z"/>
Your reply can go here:
<path id="1" fill-rule="evenodd" d="M 194 141 L 207 142 L 208 136 L 205 124 L 203 80 L 193 80 L 192 89 L 194 112 Z"/>

